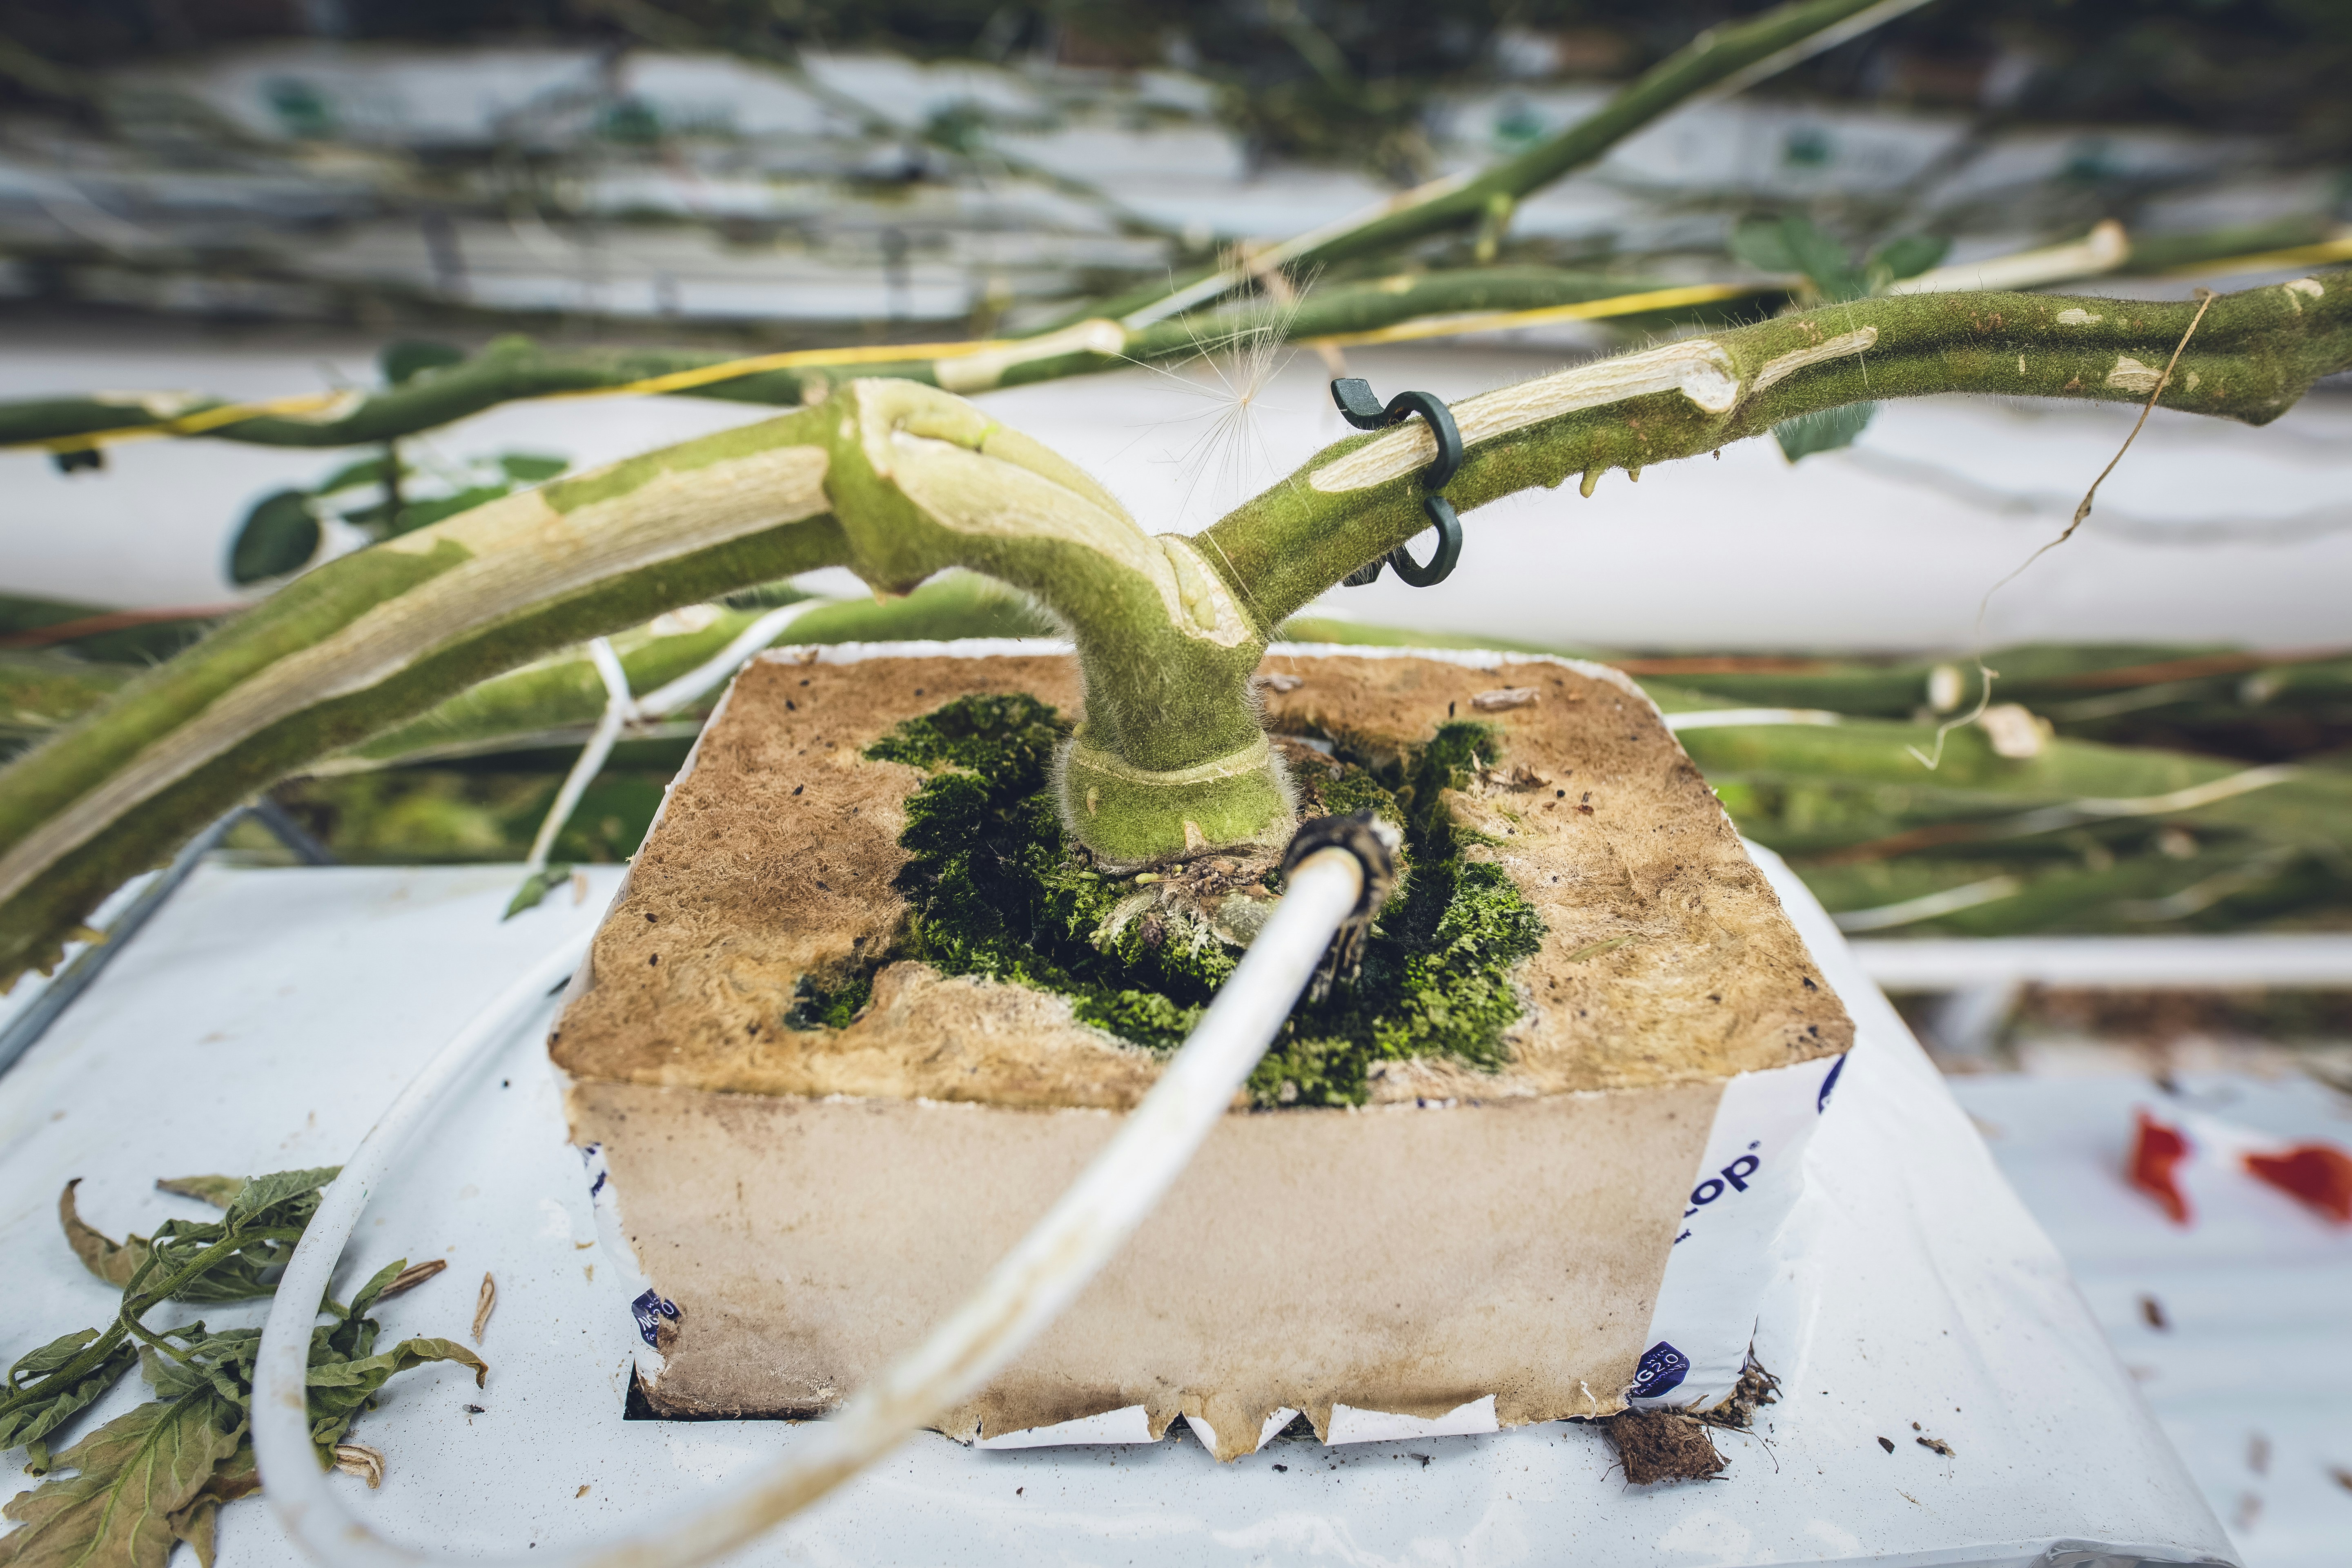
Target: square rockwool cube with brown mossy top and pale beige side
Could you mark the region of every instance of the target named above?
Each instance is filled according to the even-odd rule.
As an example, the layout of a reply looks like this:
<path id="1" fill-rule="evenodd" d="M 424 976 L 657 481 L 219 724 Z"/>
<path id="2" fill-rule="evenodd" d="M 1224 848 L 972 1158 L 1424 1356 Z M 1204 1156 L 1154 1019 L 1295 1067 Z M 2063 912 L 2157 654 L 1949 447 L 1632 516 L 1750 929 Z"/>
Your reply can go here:
<path id="1" fill-rule="evenodd" d="M 1853 1025 L 1651 701 L 1562 658 L 1277 644 L 1301 811 L 1406 837 L 1077 1302 L 941 1429 L 1221 1455 L 1712 1406 Z M 1040 644 L 783 649 L 710 717 L 550 1037 L 663 1415 L 821 1415 L 1150 1088 L 1272 856 L 1094 865 Z"/>

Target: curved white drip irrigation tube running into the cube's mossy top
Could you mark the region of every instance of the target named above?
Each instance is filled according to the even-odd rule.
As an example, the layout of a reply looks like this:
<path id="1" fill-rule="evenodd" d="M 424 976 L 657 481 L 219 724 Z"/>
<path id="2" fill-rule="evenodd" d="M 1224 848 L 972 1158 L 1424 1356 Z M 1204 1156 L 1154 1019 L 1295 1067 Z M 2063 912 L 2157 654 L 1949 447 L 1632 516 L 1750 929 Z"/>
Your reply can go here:
<path id="1" fill-rule="evenodd" d="M 1364 863 L 1348 849 L 1317 849 L 1291 867 L 1272 919 L 1110 1147 L 990 1269 L 955 1316 L 858 1389 L 835 1418 L 804 1427 L 793 1450 L 767 1472 L 602 1544 L 548 1549 L 553 1542 L 541 1542 L 529 1556 L 409 1547 L 367 1528 L 320 1472 L 303 1399 L 310 1326 L 369 1194 L 397 1168 L 449 1093 L 485 1065 L 515 1018 L 579 964 L 588 936 L 567 940 L 475 1013 L 400 1091 L 353 1150 L 343 1173 L 327 1185 L 318 1215 L 287 1262 L 254 1366 L 254 1458 L 278 1523 L 303 1552 L 332 1568 L 687 1568 L 750 1542 L 976 1392 L 1061 1316 L 1160 1204 L 1232 1105 L 1362 896 Z"/>

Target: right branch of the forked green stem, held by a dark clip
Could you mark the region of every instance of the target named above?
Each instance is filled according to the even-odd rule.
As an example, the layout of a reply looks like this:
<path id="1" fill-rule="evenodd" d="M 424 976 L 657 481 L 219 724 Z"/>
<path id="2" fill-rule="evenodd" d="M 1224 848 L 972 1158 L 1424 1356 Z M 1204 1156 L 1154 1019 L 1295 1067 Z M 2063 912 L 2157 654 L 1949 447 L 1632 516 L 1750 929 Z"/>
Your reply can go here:
<path id="1" fill-rule="evenodd" d="M 1639 473 L 1867 400 L 2145 402 L 2194 315 L 2194 303 L 1910 294 L 1682 339 L 1454 404 L 1468 456 L 1446 498 L 1465 512 L 1573 475 Z M 2352 273 L 2321 273 L 2216 299 L 2161 402 L 2260 425 L 2347 367 Z M 1428 527 L 1416 475 L 1432 456 L 1421 421 L 1343 440 L 1202 543 L 1282 621 Z"/>

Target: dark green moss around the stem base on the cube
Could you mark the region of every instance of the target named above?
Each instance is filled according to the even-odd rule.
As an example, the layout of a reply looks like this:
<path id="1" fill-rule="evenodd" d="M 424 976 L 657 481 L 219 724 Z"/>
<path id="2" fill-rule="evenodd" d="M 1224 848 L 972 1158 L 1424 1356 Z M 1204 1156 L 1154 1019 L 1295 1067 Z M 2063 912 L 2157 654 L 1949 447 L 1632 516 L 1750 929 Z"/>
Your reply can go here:
<path id="1" fill-rule="evenodd" d="M 931 771 L 908 799 L 901 891 L 913 914 L 882 961 L 910 957 L 1070 997 L 1075 1013 L 1152 1051 L 1200 1020 L 1240 947 L 1167 914 L 1131 879 L 1098 875 L 1054 811 L 1063 719 L 1030 696 L 969 696 L 901 724 L 868 757 Z M 1258 1105 L 1357 1105 L 1376 1060 L 1451 1056 L 1503 1063 L 1519 1016 L 1510 966 L 1543 922 L 1510 877 L 1463 858 L 1475 842 L 1439 795 L 1501 750 L 1484 724 L 1446 724 L 1404 752 L 1336 743 L 1338 769 L 1308 778 L 1312 811 L 1374 811 L 1404 830 L 1406 875 L 1352 985 L 1301 1004 L 1251 1077 Z M 804 987 L 797 1027 L 840 1027 L 870 992 L 870 969 L 840 990 Z"/>

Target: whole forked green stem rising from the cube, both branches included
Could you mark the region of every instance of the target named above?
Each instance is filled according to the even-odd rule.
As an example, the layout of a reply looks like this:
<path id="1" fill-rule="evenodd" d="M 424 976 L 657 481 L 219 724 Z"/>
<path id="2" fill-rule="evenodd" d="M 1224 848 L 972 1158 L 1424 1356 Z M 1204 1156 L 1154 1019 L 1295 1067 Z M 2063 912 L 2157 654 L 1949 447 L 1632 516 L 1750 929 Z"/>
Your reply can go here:
<path id="1" fill-rule="evenodd" d="M 1865 299 L 1468 397 L 1458 510 L 1696 456 L 1816 409 L 1926 393 L 2138 402 L 2192 306 Z M 2159 402 L 2265 423 L 2352 367 L 2352 273 L 2211 303 Z M 1249 703 L 1272 628 L 1425 527 L 1428 428 L 1329 447 L 1197 541 L 948 393 L 861 381 L 332 562 L 0 771 L 0 983 L 125 877 L 308 762 L 555 646 L 844 564 L 880 590 L 967 567 L 1065 621 L 1080 842 L 1131 863 L 1263 839 L 1291 797 Z"/>

